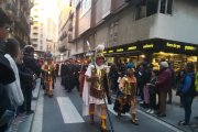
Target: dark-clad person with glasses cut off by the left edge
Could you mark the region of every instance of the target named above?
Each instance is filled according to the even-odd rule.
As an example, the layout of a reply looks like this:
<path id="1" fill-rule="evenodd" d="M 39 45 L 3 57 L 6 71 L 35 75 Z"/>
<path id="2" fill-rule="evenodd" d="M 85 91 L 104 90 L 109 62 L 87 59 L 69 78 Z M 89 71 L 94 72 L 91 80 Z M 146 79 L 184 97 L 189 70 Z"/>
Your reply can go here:
<path id="1" fill-rule="evenodd" d="M 4 57 L 7 47 L 6 38 L 10 31 L 10 24 L 12 24 L 12 20 L 0 8 L 0 132 L 7 130 L 8 121 L 14 116 L 14 112 L 9 109 L 11 106 L 10 92 L 4 87 L 15 81 L 14 72 L 9 61 Z"/>

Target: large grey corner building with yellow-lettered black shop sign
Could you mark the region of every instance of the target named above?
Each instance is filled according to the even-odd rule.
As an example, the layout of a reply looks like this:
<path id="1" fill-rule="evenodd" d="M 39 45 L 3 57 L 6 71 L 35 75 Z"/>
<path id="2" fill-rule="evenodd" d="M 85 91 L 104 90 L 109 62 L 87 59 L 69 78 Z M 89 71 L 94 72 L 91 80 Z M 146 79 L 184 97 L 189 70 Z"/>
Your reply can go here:
<path id="1" fill-rule="evenodd" d="M 186 62 L 197 65 L 198 1 L 74 0 L 72 3 L 75 10 L 72 55 L 77 59 L 87 54 L 89 41 L 92 53 L 98 44 L 105 44 L 109 62 L 132 58 L 136 64 L 146 57 L 158 68 L 156 62 L 164 57 L 176 70 Z"/>

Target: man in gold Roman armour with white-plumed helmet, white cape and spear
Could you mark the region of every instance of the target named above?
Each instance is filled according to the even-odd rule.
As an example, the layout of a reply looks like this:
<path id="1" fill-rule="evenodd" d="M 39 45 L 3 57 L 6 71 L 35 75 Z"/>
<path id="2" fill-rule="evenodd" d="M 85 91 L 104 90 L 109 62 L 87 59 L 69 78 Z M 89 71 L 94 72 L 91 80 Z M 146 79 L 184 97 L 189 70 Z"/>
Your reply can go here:
<path id="1" fill-rule="evenodd" d="M 105 55 L 102 54 L 105 46 L 98 45 L 96 48 L 96 69 L 94 65 L 89 65 L 86 72 L 86 79 L 84 85 L 82 100 L 84 100 L 84 116 L 90 116 L 90 124 L 94 125 L 94 114 L 101 118 L 101 131 L 108 132 L 108 128 L 106 125 L 107 119 L 107 108 L 105 105 L 105 100 L 102 99 L 101 88 L 105 94 L 106 100 L 108 103 L 111 103 L 110 89 L 108 82 L 108 67 L 103 65 Z M 98 81 L 98 78 L 101 81 L 101 88 Z"/>

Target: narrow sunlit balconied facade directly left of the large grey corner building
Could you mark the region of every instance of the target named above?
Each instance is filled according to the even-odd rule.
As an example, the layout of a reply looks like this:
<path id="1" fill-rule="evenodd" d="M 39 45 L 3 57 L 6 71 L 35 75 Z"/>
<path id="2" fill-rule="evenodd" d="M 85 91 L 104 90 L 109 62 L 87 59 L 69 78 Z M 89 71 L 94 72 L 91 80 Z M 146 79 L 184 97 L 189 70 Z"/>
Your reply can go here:
<path id="1" fill-rule="evenodd" d="M 57 61 L 62 62 L 70 57 L 74 12 L 70 1 L 58 0 L 58 9 Z"/>

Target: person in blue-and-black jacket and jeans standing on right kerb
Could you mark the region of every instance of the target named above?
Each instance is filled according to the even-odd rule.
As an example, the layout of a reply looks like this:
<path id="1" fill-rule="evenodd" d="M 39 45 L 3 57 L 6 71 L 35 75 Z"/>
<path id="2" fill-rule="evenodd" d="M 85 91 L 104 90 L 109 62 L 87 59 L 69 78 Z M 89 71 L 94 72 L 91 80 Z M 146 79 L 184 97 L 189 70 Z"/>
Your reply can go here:
<path id="1" fill-rule="evenodd" d="M 179 125 L 189 125 L 191 116 L 191 103 L 196 96 L 195 88 L 195 65 L 193 63 L 185 64 L 185 70 L 187 74 L 180 79 L 179 85 L 183 86 L 180 96 L 184 100 L 185 120 L 179 121 Z"/>

